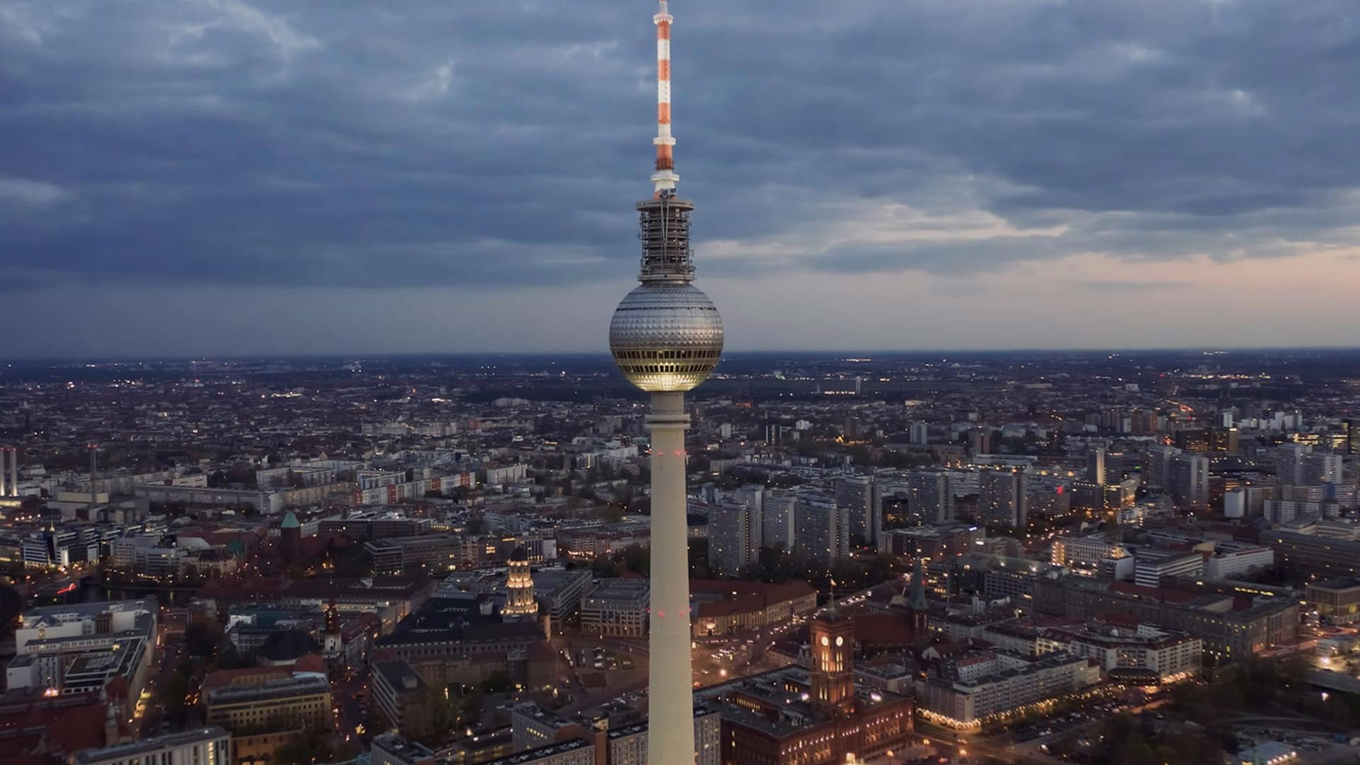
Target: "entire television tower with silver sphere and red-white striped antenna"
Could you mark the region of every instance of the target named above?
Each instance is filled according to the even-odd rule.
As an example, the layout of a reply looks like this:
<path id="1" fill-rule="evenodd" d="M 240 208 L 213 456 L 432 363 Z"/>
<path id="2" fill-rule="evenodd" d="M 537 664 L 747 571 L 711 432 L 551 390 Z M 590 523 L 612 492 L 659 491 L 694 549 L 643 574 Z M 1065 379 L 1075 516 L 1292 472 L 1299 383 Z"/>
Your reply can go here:
<path id="1" fill-rule="evenodd" d="M 609 323 L 619 370 L 651 393 L 651 608 L 649 615 L 649 765 L 694 765 L 694 671 L 690 663 L 690 564 L 685 525 L 684 392 L 722 355 L 722 319 L 695 287 L 690 250 L 694 203 L 676 196 L 670 135 L 670 22 L 657 25 L 657 147 L 653 195 L 636 204 L 642 271 Z"/>

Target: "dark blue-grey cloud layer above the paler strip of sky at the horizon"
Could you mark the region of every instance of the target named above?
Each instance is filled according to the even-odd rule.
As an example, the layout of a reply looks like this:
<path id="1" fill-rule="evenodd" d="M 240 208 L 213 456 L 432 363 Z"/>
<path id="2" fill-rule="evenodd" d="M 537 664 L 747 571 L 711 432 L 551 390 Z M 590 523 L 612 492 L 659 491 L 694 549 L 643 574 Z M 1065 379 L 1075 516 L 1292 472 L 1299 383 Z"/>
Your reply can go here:
<path id="1" fill-rule="evenodd" d="M 1352 11 L 677 0 L 681 185 L 702 240 L 774 242 L 793 268 L 1352 245 Z M 0 0 L 0 270 L 30 286 L 617 275 L 654 129 L 650 12 Z M 947 223 L 929 241 L 846 223 L 880 207 Z M 960 211 L 1001 230 L 952 240 Z"/>

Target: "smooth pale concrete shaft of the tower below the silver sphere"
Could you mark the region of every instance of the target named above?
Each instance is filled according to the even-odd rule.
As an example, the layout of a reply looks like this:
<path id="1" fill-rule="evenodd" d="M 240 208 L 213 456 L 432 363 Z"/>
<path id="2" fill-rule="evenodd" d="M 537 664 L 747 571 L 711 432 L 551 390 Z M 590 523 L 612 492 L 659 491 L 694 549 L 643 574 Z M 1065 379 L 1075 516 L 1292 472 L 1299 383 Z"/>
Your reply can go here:
<path id="1" fill-rule="evenodd" d="M 651 393 L 651 614 L 647 765 L 694 765 L 684 393 Z"/>

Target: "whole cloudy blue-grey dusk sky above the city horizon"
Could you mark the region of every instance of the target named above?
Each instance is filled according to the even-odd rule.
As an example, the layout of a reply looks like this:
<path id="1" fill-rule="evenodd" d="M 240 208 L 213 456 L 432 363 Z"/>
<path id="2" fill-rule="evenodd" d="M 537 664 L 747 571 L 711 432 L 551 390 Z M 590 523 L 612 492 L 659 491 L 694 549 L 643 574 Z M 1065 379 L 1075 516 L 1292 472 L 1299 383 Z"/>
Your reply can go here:
<path id="1" fill-rule="evenodd" d="M 0 0 L 0 354 L 604 350 L 647 0 Z M 675 0 L 728 346 L 1356 344 L 1355 0 Z"/>

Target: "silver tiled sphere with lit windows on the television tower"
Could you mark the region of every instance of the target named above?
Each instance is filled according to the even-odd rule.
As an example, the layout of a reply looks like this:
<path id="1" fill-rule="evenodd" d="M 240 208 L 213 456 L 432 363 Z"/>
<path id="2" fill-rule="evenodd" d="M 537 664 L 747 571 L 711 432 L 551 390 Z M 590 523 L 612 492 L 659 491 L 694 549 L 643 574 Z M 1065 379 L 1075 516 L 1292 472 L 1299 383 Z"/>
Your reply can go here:
<path id="1" fill-rule="evenodd" d="M 649 393 L 690 391 L 722 355 L 722 317 L 688 282 L 645 282 L 609 323 L 609 350 L 628 382 Z"/>

